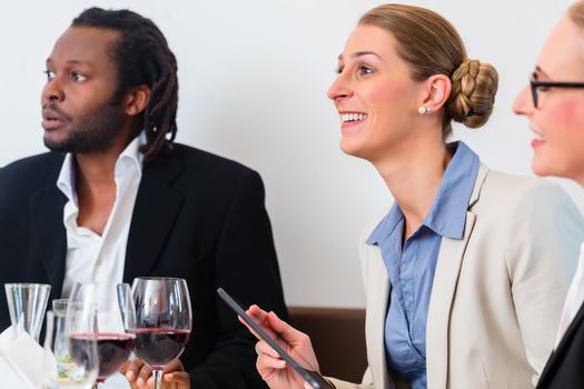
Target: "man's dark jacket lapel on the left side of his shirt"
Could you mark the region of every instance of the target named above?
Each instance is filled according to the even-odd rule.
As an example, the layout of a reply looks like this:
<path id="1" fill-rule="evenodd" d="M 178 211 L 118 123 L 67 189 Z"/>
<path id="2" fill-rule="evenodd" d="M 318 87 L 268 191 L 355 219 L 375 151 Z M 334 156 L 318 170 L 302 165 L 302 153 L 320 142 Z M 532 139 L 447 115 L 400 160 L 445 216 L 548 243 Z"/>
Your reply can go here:
<path id="1" fill-rule="evenodd" d="M 67 197 L 57 188 L 61 164 L 62 156 L 56 158 L 55 166 L 46 169 L 47 184 L 29 200 L 32 241 L 40 251 L 53 297 L 61 296 L 67 256 L 67 233 L 63 225 Z"/>

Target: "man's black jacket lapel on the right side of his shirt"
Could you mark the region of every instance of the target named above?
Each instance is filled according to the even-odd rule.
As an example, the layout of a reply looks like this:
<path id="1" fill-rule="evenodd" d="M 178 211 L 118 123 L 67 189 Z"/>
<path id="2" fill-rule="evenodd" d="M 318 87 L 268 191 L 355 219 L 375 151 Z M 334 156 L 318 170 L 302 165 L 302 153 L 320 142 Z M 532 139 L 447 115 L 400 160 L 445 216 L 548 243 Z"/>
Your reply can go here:
<path id="1" fill-rule="evenodd" d="M 182 205 L 182 196 L 171 188 L 180 173 L 180 162 L 165 153 L 145 166 L 133 207 L 123 281 L 147 276 L 155 267 Z"/>

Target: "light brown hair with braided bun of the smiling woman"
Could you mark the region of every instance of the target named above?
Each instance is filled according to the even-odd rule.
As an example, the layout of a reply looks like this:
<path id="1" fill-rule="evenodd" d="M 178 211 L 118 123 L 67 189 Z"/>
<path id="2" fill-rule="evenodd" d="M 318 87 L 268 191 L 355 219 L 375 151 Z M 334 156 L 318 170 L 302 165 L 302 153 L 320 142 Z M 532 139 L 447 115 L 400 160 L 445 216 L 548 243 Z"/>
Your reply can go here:
<path id="1" fill-rule="evenodd" d="M 366 12 L 359 24 L 376 26 L 392 33 L 397 41 L 397 54 L 409 66 L 412 80 L 424 81 L 434 74 L 451 78 L 444 138 L 452 132 L 452 120 L 469 128 L 488 120 L 497 92 L 497 71 L 488 63 L 466 58 L 463 40 L 446 19 L 420 7 L 384 4 Z"/>

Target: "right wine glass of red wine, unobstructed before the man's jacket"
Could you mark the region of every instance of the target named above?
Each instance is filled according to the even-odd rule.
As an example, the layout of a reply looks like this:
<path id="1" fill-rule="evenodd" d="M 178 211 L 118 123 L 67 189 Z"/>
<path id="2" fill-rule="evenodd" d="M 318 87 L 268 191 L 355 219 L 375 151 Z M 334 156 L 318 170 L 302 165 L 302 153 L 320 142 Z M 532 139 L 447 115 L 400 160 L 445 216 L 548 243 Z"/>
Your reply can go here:
<path id="1" fill-rule="evenodd" d="M 160 389 L 162 369 L 178 358 L 192 326 L 187 282 L 181 278 L 140 277 L 132 283 L 136 306 L 133 352 L 152 369 Z"/>

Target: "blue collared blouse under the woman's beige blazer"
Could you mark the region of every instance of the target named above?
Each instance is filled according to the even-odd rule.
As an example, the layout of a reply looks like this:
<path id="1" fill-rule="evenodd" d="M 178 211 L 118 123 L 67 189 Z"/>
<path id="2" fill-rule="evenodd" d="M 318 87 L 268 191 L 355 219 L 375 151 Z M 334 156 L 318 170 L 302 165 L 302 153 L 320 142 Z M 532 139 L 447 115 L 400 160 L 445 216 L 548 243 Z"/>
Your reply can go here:
<path id="1" fill-rule="evenodd" d="M 455 150 L 454 156 L 434 203 L 405 245 L 404 213 L 397 203 L 367 239 L 367 245 L 379 246 L 392 285 L 385 321 L 387 361 L 412 389 L 427 388 L 426 321 L 442 238 L 463 239 L 481 164 L 463 142 L 449 143 L 448 149 Z"/>

